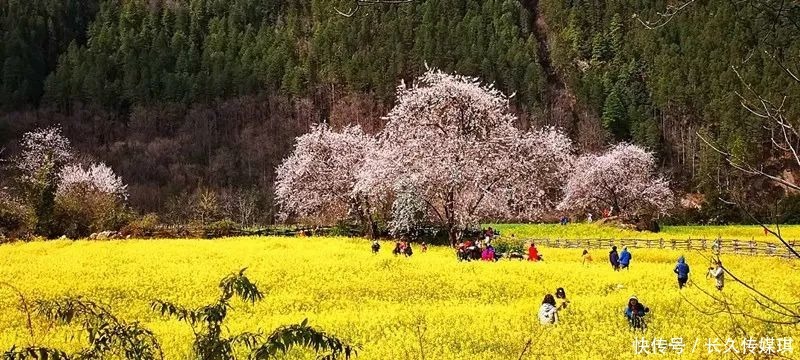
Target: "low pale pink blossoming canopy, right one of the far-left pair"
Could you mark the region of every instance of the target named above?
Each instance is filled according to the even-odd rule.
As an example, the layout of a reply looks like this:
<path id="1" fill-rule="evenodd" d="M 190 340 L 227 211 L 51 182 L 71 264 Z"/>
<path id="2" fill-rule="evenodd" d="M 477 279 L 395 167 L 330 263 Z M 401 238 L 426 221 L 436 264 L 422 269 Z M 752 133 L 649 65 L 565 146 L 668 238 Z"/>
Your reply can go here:
<path id="1" fill-rule="evenodd" d="M 56 197 L 69 192 L 91 192 L 119 200 L 128 198 L 128 186 L 104 163 L 91 164 L 87 168 L 77 164 L 65 166 L 58 175 Z"/>

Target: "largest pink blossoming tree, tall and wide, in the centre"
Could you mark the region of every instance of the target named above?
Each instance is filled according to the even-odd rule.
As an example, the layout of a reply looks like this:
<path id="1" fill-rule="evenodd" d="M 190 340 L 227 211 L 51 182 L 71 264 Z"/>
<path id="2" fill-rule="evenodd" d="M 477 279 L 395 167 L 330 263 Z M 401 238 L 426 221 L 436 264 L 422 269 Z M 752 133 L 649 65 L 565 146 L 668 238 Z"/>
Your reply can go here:
<path id="1" fill-rule="evenodd" d="M 508 98 L 477 79 L 429 70 L 401 84 L 355 193 L 392 200 L 390 230 L 437 224 L 455 242 L 481 219 L 535 219 L 560 199 L 571 143 L 520 132 Z"/>

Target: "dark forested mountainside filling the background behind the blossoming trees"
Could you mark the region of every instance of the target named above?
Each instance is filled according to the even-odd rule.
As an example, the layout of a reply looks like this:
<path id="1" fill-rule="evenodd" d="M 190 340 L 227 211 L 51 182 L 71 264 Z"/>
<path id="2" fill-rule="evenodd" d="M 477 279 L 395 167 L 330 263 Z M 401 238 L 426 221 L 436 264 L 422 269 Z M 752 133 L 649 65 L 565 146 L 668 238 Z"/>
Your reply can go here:
<path id="1" fill-rule="evenodd" d="M 675 221 L 747 221 L 718 199 L 758 197 L 770 209 L 786 195 L 730 171 L 697 134 L 787 168 L 775 129 L 737 94 L 750 84 L 800 118 L 796 2 L 695 1 L 670 18 L 663 1 L 630 0 L 335 12 L 348 3 L 6 0 L 3 156 L 22 133 L 60 124 L 81 154 L 122 175 L 139 212 L 181 222 L 209 192 L 256 193 L 268 223 L 274 168 L 295 136 L 318 122 L 377 131 L 400 81 L 430 66 L 495 83 L 514 94 L 520 127 L 560 126 L 581 151 L 630 141 L 656 152 L 680 193 L 706 199 Z"/>

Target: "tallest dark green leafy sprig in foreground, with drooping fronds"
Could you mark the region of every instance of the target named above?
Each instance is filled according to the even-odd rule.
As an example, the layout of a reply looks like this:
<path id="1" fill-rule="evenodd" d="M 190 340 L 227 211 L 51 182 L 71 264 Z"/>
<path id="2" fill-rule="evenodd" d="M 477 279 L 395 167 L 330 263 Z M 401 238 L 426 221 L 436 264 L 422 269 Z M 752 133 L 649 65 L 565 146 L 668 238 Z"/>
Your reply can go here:
<path id="1" fill-rule="evenodd" d="M 317 330 L 308 325 L 308 319 L 300 324 L 285 325 L 273 330 L 269 335 L 260 332 L 244 332 L 238 335 L 223 336 L 222 324 L 231 307 L 234 296 L 242 301 L 255 303 L 264 294 L 255 283 L 244 275 L 245 269 L 232 273 L 219 283 L 220 297 L 217 302 L 197 309 L 188 309 L 163 300 L 152 303 L 153 310 L 163 316 L 174 317 L 188 323 L 195 334 L 194 354 L 200 360 L 236 359 L 234 349 L 243 345 L 250 350 L 251 359 L 272 359 L 279 353 L 285 354 L 292 347 L 302 346 L 323 353 L 319 358 L 333 360 L 342 354 L 350 357 L 351 346 L 339 338 Z"/>

